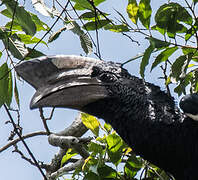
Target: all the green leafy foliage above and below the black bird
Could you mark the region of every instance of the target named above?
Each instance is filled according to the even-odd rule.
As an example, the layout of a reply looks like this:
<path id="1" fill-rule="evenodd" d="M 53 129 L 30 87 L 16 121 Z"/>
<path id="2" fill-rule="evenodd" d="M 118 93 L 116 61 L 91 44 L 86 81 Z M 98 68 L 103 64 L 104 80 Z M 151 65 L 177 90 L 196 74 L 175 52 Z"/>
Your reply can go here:
<path id="1" fill-rule="evenodd" d="M 100 57 L 99 46 L 90 35 L 92 31 L 96 31 L 96 39 L 100 29 L 127 35 L 130 39 L 131 33 L 139 34 L 149 42 L 143 54 L 138 56 L 141 58 L 139 72 L 142 78 L 147 76 L 146 68 L 153 71 L 161 67 L 167 89 L 170 84 L 174 84 L 174 92 L 179 96 L 185 94 L 188 87 L 191 92 L 197 92 L 198 19 L 195 11 L 197 2 L 197 0 L 184 0 L 183 3 L 168 1 L 158 7 L 156 12 L 152 12 L 150 0 L 128 0 L 126 7 L 128 17 L 115 10 L 119 19 L 112 19 L 108 12 L 99 9 L 99 5 L 105 3 L 105 0 L 68 1 L 62 12 L 55 6 L 49 8 L 44 0 L 32 0 L 38 14 L 48 18 L 57 17 L 57 21 L 63 22 L 59 30 L 51 33 L 53 25 L 49 27 L 36 14 L 19 5 L 18 1 L 2 0 L 4 9 L 0 13 L 9 21 L 0 27 L 0 40 L 5 47 L 0 51 L 0 58 L 7 56 L 7 59 L 4 58 L 5 61 L 1 59 L 3 63 L 0 66 L 0 107 L 3 104 L 10 107 L 13 98 L 18 107 L 20 106 L 18 81 L 13 70 L 14 59 L 19 63 L 44 55 L 36 49 L 37 45 L 42 43 L 48 46 L 48 43 L 60 38 L 65 31 L 71 31 L 79 37 L 86 55 L 93 53 L 95 48 L 98 57 Z M 73 10 L 75 16 L 65 10 L 67 6 Z M 40 33 L 44 33 L 42 38 L 39 38 Z M 46 35 L 48 39 L 44 40 Z M 135 59 L 137 58 L 131 60 Z M 139 172 L 142 179 L 168 179 L 162 170 L 135 156 L 109 125 L 101 126 L 96 118 L 87 114 L 82 114 L 82 119 L 93 132 L 96 142 L 86 146 L 90 157 L 81 169 L 76 169 L 73 178 L 81 174 L 84 179 L 135 179 Z M 99 135 L 100 131 L 103 135 Z M 74 155 L 76 152 L 69 149 L 61 166 Z M 123 164 L 121 170 L 118 168 L 120 164 Z"/>

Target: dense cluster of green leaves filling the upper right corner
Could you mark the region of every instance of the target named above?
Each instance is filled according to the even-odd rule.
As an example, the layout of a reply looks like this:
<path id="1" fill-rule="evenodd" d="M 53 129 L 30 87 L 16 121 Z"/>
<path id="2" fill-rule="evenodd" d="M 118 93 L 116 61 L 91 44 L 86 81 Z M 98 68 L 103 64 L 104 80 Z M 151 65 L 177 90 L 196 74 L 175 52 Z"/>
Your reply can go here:
<path id="1" fill-rule="evenodd" d="M 150 65 L 150 71 L 159 66 L 164 71 L 165 85 L 176 84 L 174 91 L 186 94 L 190 86 L 191 92 L 197 92 L 197 49 L 198 49 L 198 20 L 196 15 L 197 1 L 186 6 L 179 2 L 165 3 L 152 16 L 150 1 L 129 0 L 127 13 L 132 23 L 140 29 L 143 26 L 149 34 L 143 35 L 149 40 L 140 64 L 140 75 L 145 77 L 145 70 Z M 144 7 L 144 10 L 142 10 Z M 143 18 L 144 17 L 144 18 Z M 153 17 L 155 24 L 151 25 Z M 138 23 L 140 20 L 141 23 Z M 143 32 L 140 32 L 143 33 Z M 155 54 L 152 62 L 151 55 Z"/>

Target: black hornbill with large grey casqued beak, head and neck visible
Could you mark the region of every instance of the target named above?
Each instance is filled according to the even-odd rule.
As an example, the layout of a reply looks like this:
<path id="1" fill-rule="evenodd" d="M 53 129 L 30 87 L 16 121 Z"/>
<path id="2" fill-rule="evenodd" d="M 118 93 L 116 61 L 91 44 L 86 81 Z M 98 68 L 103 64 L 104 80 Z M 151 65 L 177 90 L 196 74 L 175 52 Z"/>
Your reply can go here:
<path id="1" fill-rule="evenodd" d="M 137 155 L 176 180 L 198 179 L 198 122 L 121 64 L 59 55 L 24 61 L 16 71 L 36 89 L 31 109 L 66 107 L 102 118 Z"/>

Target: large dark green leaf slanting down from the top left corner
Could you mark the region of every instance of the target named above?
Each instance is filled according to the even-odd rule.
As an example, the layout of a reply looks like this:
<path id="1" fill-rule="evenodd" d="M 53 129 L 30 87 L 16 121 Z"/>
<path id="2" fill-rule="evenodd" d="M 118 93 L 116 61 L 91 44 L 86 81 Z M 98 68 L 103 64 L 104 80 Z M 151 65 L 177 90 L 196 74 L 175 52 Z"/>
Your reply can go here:
<path id="1" fill-rule="evenodd" d="M 14 14 L 16 22 L 22 27 L 25 33 L 33 36 L 36 33 L 36 25 L 24 7 L 19 6 L 14 0 L 3 0 L 2 2 L 6 5 L 9 13 L 12 16 Z"/>

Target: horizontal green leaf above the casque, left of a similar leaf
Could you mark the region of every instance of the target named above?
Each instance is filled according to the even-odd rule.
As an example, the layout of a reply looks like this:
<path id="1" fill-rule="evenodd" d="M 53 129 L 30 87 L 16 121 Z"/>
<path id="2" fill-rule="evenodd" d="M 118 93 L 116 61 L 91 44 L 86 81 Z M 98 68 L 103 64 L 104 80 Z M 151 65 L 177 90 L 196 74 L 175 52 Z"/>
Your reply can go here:
<path id="1" fill-rule="evenodd" d="M 83 28 L 86 29 L 87 31 L 94 31 L 96 29 L 100 29 L 104 27 L 105 25 L 109 24 L 109 20 L 99 20 L 99 21 L 92 21 L 88 22 L 83 25 Z"/>

